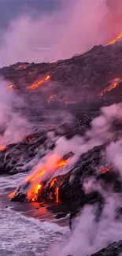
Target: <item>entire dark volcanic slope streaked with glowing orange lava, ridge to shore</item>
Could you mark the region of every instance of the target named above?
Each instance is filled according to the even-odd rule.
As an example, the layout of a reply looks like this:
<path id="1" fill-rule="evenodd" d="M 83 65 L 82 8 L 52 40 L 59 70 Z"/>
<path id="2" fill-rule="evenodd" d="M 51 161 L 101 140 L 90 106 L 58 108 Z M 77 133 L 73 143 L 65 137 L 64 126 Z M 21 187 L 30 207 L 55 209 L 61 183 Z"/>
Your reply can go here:
<path id="1" fill-rule="evenodd" d="M 32 173 L 26 182 L 24 180 L 24 184 L 17 187 L 13 200 L 26 201 L 28 195 L 31 201 L 54 200 L 51 210 L 71 212 L 72 228 L 73 217 L 86 204 L 97 203 L 97 219 L 104 208 L 105 198 L 100 191 L 96 189 L 87 194 L 84 190 L 88 178 L 102 184 L 102 188 L 105 185 L 112 186 L 113 193 L 120 193 L 120 174 L 117 166 L 105 158 L 105 150 L 110 143 L 122 138 L 122 115 L 118 114 L 122 109 L 121 69 L 120 42 L 94 46 L 87 53 L 68 60 L 41 64 L 17 63 L 0 69 L 1 76 L 9 81 L 6 90 L 13 90 L 24 98 L 20 113 L 35 126 L 35 130 L 23 136 L 20 143 L 6 145 L 5 148 L 1 145 L 0 174 L 12 175 L 34 170 L 41 159 L 57 152 L 57 146 L 60 145 L 57 145 L 58 139 L 63 137 L 64 142 L 66 140 L 60 146 L 60 159 L 54 160 L 53 173 L 43 176 L 47 174 L 48 166 L 38 169 L 39 173 Z M 93 130 L 92 126 L 93 120 L 96 120 L 94 118 L 102 115 L 102 107 L 114 103 L 120 104 L 116 104 L 119 111 L 116 110 L 114 118 L 111 117 L 109 128 L 102 125 L 102 130 L 95 133 L 96 127 Z M 109 117 L 105 117 L 109 123 Z M 105 127 L 107 131 L 103 129 Z M 75 144 L 71 143 L 72 139 Z M 85 149 L 78 147 L 80 140 Z M 79 158 L 74 157 L 77 152 L 74 145 L 79 149 Z M 70 163 L 72 159 L 75 159 L 74 164 L 67 168 L 67 162 Z M 34 185 L 35 180 L 38 180 L 36 187 L 32 187 L 33 180 Z"/>

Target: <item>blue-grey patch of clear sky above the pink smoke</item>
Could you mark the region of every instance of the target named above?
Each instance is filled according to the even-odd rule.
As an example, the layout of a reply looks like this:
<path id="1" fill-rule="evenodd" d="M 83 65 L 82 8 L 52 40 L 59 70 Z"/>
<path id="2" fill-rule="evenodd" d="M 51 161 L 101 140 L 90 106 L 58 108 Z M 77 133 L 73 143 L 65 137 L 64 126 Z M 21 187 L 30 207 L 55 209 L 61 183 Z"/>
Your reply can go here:
<path id="1" fill-rule="evenodd" d="M 0 0 L 0 29 L 4 29 L 10 20 L 21 14 L 40 15 L 49 13 L 58 6 L 58 0 Z"/>

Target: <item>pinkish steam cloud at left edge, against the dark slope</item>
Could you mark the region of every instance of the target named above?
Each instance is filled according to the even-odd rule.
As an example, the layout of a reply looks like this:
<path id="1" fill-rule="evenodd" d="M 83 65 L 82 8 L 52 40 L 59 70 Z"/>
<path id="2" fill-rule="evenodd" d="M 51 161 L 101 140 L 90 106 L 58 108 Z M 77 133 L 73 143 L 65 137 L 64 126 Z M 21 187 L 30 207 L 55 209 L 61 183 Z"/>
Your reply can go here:
<path id="1" fill-rule="evenodd" d="M 7 89 L 9 82 L 0 79 L 0 145 L 17 143 L 31 132 L 31 124 L 20 114 L 23 99 Z"/>

